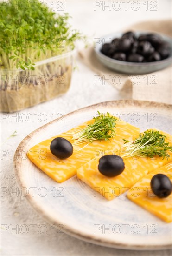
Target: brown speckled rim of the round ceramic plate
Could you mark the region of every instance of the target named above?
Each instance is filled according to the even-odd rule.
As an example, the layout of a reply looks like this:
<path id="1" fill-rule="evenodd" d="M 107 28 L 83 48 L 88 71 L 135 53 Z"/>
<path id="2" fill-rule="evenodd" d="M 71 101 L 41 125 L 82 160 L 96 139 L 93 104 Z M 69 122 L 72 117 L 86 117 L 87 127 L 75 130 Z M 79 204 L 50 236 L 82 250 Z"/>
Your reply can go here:
<path id="1" fill-rule="evenodd" d="M 120 106 L 126 106 L 128 105 L 133 105 L 134 107 L 141 107 L 142 105 L 144 105 L 144 107 L 151 107 L 151 108 L 163 108 L 163 110 L 170 110 L 172 105 L 171 104 L 166 104 L 166 103 L 160 103 L 160 102 L 155 102 L 155 101 L 140 101 L 140 100 L 116 100 L 116 101 L 104 101 L 104 102 L 100 102 L 100 103 L 96 103 L 93 105 L 89 105 L 87 107 L 84 108 L 79 108 L 75 111 L 72 111 L 65 116 L 70 116 L 73 114 L 76 114 L 77 112 L 82 112 L 85 110 L 89 110 L 91 108 L 95 108 L 95 107 L 107 107 L 108 105 L 112 105 L 116 106 L 116 107 L 120 107 Z M 125 104 L 125 105 L 124 105 Z M 59 119 L 61 119 L 61 117 L 57 118 L 55 121 L 58 121 Z M 13 159 L 13 170 L 14 170 L 14 174 L 16 177 L 16 180 L 19 184 L 20 187 L 25 187 L 25 180 L 23 179 L 22 176 L 22 171 L 20 169 L 21 166 L 21 162 L 23 161 L 21 157 L 19 157 L 19 152 L 21 152 L 22 150 L 25 150 L 25 144 L 32 138 L 33 135 L 36 135 L 37 133 L 39 133 L 40 130 L 45 129 L 46 127 L 48 127 L 49 125 L 51 125 L 51 123 L 54 123 L 53 121 L 48 122 L 47 124 L 39 127 L 38 129 L 32 131 L 29 135 L 27 135 L 20 143 L 19 146 L 17 147 L 16 151 L 15 151 L 15 155 L 14 155 L 14 159 Z M 89 243 L 93 243 L 93 244 L 97 244 L 97 245 L 101 245 L 101 246 L 105 246 L 105 247 L 110 247 L 110 248 L 117 248 L 117 249 L 130 249 L 130 250 L 163 250 L 163 249 L 171 249 L 171 244 L 166 244 L 166 245 L 139 245 L 139 244 L 127 244 L 127 243 L 117 243 L 117 242 L 108 242 L 106 239 L 102 238 L 96 238 L 93 235 L 86 235 L 83 232 L 80 232 L 76 229 L 70 228 L 70 226 L 66 226 L 65 223 L 59 223 L 58 220 L 56 218 L 53 218 L 53 216 L 51 216 L 51 214 L 48 211 L 45 211 L 44 207 L 40 207 L 41 205 L 39 205 L 39 202 L 37 201 L 37 199 L 34 199 L 34 197 L 32 197 L 30 194 L 28 194 L 26 196 L 27 201 L 32 205 L 32 208 L 35 209 L 35 211 L 40 214 L 47 222 L 49 223 L 53 223 L 56 225 L 59 224 L 64 224 L 64 233 L 70 235 L 70 236 L 74 236 L 80 240 L 83 240 L 85 242 L 89 242 Z"/>

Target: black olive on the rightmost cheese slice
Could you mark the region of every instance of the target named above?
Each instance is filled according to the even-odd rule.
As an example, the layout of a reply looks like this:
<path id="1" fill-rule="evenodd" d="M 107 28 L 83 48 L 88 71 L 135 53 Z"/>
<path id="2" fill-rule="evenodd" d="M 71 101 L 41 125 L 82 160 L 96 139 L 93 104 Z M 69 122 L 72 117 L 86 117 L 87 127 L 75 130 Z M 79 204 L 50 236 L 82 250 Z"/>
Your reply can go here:
<path id="1" fill-rule="evenodd" d="M 151 179 L 151 189 L 156 196 L 167 197 L 172 192 L 172 183 L 166 175 L 156 174 Z"/>

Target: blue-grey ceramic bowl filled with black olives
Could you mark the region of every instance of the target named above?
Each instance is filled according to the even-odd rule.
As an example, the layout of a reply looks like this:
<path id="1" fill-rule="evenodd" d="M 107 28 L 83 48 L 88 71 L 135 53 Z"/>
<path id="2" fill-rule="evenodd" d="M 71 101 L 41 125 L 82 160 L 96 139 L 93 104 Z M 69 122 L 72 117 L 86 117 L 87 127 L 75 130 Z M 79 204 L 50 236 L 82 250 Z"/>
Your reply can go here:
<path id="1" fill-rule="evenodd" d="M 172 39 L 147 31 L 115 33 L 102 37 L 95 52 L 98 60 L 112 70 L 148 74 L 171 64 Z"/>

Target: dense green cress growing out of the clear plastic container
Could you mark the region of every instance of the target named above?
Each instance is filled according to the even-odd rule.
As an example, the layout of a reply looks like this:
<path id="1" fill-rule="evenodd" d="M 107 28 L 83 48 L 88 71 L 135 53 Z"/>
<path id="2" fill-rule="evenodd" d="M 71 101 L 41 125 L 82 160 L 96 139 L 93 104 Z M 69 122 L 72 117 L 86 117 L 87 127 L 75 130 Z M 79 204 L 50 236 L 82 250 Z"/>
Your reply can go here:
<path id="1" fill-rule="evenodd" d="M 25 6 L 0 1 L 1 68 L 34 70 L 34 62 L 69 52 L 84 39 L 69 25 L 68 13 L 56 14 L 38 0 L 25 0 Z"/>

